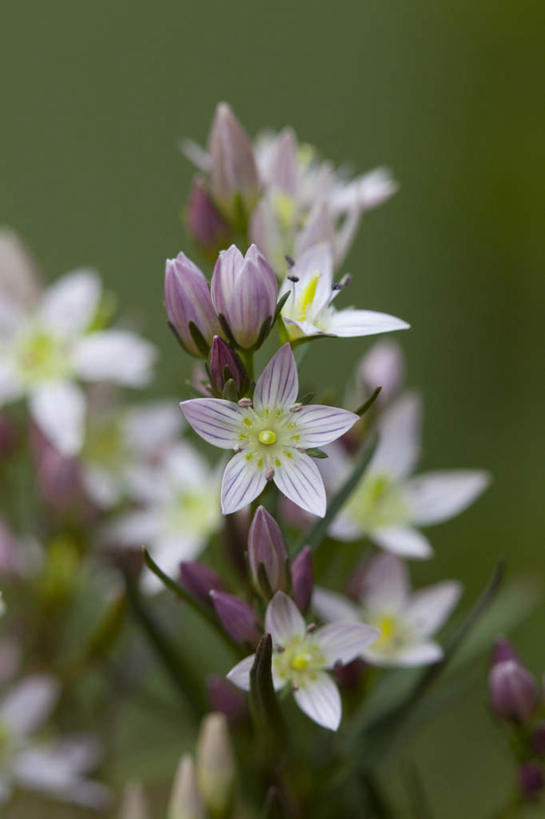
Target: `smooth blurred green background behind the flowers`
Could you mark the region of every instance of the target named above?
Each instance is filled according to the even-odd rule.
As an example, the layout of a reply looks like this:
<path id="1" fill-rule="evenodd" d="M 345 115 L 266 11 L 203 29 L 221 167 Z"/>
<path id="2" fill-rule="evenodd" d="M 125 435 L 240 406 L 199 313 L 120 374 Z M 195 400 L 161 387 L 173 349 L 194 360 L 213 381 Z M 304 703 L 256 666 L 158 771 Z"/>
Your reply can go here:
<path id="1" fill-rule="evenodd" d="M 345 265 L 350 298 L 412 324 L 399 340 L 409 383 L 424 393 L 423 466 L 494 475 L 483 499 L 431 531 L 437 556 L 415 573 L 460 577 L 467 599 L 498 555 L 511 576 L 539 576 L 544 35 L 545 4 L 532 0 L 8 0 L 0 223 L 20 232 L 49 278 L 100 270 L 163 351 L 157 392 L 179 386 L 182 397 L 186 362 L 162 305 L 164 260 L 186 249 L 192 169 L 179 139 L 203 143 L 225 99 L 250 134 L 291 124 L 355 171 L 388 165 L 400 192 L 365 218 Z M 342 388 L 369 344 L 317 345 L 314 376 Z M 514 635 L 535 672 L 544 626 L 541 607 Z M 470 695 L 407 748 L 444 819 L 487 816 L 511 776 L 484 664 L 474 672 Z M 167 739 L 159 728 L 146 728 L 147 753 L 120 780 L 149 772 L 155 750 L 174 745 L 174 728 Z"/>

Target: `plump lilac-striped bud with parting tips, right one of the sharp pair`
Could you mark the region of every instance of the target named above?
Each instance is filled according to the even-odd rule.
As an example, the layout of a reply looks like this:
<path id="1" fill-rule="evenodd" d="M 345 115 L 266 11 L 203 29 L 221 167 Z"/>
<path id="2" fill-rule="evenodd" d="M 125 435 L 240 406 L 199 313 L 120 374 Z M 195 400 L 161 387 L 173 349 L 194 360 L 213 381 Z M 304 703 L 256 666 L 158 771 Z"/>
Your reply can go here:
<path id="1" fill-rule="evenodd" d="M 255 245 L 250 245 L 246 256 L 235 245 L 220 253 L 211 294 L 216 313 L 223 316 L 240 347 L 249 349 L 263 341 L 276 310 L 278 284 Z"/>

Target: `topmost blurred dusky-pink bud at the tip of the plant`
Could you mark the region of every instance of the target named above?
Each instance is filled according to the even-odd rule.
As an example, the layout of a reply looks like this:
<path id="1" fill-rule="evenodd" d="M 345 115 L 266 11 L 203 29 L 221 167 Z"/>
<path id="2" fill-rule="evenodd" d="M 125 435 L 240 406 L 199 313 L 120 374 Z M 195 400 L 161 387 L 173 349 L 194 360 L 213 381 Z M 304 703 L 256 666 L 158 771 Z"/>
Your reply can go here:
<path id="1" fill-rule="evenodd" d="M 247 213 L 253 209 L 259 191 L 254 149 L 230 106 L 216 108 L 208 144 L 210 188 L 216 201 L 229 216 L 238 216 L 240 197 Z"/>

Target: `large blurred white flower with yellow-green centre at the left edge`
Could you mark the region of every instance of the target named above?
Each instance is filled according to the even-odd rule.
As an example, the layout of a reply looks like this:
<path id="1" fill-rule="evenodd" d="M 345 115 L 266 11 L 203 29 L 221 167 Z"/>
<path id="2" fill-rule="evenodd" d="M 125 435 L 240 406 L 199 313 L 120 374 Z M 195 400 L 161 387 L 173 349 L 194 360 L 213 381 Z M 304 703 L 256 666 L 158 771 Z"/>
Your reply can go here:
<path id="1" fill-rule="evenodd" d="M 91 330 L 100 298 L 92 271 L 64 276 L 37 303 L 10 300 L 10 292 L 6 286 L 0 294 L 0 406 L 27 396 L 46 437 L 62 454 L 74 455 L 85 419 L 77 381 L 143 386 L 154 349 L 134 333 Z"/>

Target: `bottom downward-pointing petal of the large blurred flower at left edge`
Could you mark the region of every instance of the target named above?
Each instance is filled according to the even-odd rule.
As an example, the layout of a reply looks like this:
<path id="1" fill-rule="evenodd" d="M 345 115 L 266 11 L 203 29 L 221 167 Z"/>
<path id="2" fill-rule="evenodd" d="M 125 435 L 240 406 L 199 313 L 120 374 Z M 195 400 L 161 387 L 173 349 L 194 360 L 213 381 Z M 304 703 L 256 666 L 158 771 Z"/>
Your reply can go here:
<path id="1" fill-rule="evenodd" d="M 30 411 L 46 438 L 63 455 L 76 455 L 83 444 L 85 397 L 76 384 L 44 384 L 30 396 Z"/>

